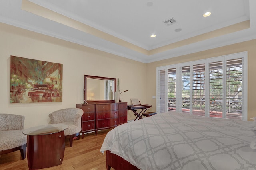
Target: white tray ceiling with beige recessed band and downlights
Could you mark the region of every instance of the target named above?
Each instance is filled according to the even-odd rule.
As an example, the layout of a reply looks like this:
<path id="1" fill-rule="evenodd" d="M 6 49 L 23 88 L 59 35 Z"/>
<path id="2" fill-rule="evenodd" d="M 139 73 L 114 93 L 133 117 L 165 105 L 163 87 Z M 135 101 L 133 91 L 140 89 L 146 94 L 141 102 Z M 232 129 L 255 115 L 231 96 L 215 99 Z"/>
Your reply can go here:
<path id="1" fill-rule="evenodd" d="M 150 63 L 256 39 L 253 6 L 255 0 L 2 0 L 0 22 Z"/>

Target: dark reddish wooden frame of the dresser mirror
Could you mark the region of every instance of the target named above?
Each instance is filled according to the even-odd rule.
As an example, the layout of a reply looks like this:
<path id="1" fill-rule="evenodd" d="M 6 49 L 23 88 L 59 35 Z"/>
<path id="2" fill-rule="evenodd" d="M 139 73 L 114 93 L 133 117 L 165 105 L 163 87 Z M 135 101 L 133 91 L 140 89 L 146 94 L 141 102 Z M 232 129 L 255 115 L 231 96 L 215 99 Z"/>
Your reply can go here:
<path id="1" fill-rule="evenodd" d="M 86 86 L 87 78 L 98 79 L 98 80 L 113 80 L 114 81 L 114 93 L 116 92 L 116 78 L 84 75 L 84 100 L 87 103 L 114 103 L 114 102 L 116 102 L 115 95 L 114 95 L 113 100 L 87 100 L 87 97 L 86 97 L 86 95 L 87 95 L 87 86 Z"/>

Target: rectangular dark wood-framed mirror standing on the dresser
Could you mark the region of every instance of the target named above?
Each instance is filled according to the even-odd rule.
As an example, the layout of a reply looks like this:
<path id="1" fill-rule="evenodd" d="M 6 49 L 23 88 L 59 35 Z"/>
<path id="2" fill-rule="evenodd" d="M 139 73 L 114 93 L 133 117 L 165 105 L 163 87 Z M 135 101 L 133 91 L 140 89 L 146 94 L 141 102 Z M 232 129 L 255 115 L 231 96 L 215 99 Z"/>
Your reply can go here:
<path id="1" fill-rule="evenodd" d="M 116 78 L 84 75 L 86 102 L 115 102 Z"/>

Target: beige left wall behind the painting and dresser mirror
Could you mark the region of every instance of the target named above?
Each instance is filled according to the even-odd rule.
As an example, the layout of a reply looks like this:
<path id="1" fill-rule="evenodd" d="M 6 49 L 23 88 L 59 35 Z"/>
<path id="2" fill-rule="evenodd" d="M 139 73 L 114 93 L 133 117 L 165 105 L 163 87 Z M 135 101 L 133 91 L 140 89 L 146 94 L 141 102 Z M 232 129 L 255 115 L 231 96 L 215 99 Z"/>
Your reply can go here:
<path id="1" fill-rule="evenodd" d="M 0 23 L 0 113 L 25 116 L 25 128 L 49 122 L 48 114 L 83 100 L 84 74 L 120 79 L 121 100 L 146 101 L 146 64 Z M 10 56 L 63 64 L 63 102 L 10 104 Z M 134 118 L 128 112 L 128 120 Z"/>

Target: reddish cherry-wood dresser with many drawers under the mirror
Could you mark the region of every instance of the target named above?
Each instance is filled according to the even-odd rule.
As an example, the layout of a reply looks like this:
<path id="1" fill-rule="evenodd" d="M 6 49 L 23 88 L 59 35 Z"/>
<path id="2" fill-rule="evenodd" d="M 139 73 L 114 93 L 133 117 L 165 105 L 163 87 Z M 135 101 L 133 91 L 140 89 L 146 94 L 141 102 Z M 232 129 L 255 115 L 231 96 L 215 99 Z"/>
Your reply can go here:
<path id="1" fill-rule="evenodd" d="M 84 133 L 116 127 L 127 123 L 127 102 L 76 104 L 84 111 L 82 115 L 82 138 Z"/>

